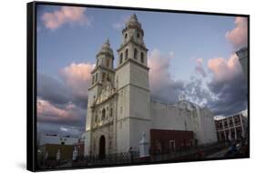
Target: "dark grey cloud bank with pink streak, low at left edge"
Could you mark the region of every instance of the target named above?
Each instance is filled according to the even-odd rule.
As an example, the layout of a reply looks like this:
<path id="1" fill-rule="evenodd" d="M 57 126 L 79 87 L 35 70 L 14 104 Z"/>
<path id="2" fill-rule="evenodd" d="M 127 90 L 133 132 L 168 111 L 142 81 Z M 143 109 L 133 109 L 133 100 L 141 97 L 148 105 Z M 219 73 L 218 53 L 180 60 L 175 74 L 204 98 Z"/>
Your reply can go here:
<path id="1" fill-rule="evenodd" d="M 83 89 L 87 93 L 87 86 Z M 74 93 L 74 88 L 70 87 L 66 80 L 62 80 L 62 77 L 57 79 L 38 73 L 36 108 L 40 127 L 37 129 L 47 133 L 77 134 L 76 130 L 69 127 L 85 127 L 87 115 L 87 95 L 78 94 Z M 59 127 L 66 130 L 59 131 Z"/>

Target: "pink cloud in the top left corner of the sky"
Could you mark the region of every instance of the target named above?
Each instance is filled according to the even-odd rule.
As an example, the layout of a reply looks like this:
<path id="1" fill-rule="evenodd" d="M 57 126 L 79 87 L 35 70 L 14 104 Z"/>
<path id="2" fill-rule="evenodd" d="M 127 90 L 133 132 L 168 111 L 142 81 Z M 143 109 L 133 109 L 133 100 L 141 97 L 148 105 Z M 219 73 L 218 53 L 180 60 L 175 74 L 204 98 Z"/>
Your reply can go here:
<path id="1" fill-rule="evenodd" d="M 52 30 L 67 23 L 86 25 L 89 24 L 89 21 L 85 15 L 85 11 L 85 7 L 63 6 L 52 13 L 47 12 L 43 14 L 42 20 L 46 28 Z"/>

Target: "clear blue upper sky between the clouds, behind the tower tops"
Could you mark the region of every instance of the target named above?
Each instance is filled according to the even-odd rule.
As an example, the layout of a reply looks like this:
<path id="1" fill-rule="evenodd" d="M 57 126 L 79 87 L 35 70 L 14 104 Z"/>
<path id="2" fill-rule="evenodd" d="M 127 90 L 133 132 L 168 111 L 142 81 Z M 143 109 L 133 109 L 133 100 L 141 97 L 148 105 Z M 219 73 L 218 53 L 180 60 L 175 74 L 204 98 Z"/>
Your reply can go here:
<path id="1" fill-rule="evenodd" d="M 41 5 L 37 8 L 37 70 L 49 75 L 71 63 L 96 62 L 96 54 L 107 37 L 115 52 L 122 41 L 121 29 L 114 24 L 124 22 L 129 15 L 138 15 L 145 33 L 148 51 L 157 48 L 161 55 L 174 52 L 170 74 L 177 79 L 189 80 L 195 62 L 191 58 L 203 58 L 206 62 L 213 57 L 228 58 L 233 51 L 225 38 L 234 27 L 234 17 L 220 15 L 189 15 L 174 13 L 145 12 L 87 8 L 85 14 L 91 25 L 62 25 L 56 30 L 47 29 L 41 19 L 46 12 L 58 10 L 60 6 Z"/>

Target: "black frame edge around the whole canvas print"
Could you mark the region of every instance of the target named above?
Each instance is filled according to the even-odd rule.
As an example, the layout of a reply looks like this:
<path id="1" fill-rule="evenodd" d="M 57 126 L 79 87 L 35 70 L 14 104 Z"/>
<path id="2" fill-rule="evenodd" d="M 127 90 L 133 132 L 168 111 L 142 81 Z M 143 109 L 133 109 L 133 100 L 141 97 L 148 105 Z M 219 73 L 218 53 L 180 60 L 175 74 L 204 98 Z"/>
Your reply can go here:
<path id="1" fill-rule="evenodd" d="M 191 160 L 175 160 L 175 161 L 160 161 L 155 163 L 141 163 L 141 164 L 129 164 L 129 165 L 104 165 L 93 167 L 70 167 L 70 168 L 49 168 L 39 169 L 36 166 L 36 5 L 67 5 L 67 6 L 83 6 L 105 9 L 119 9 L 119 10 L 138 10 L 138 11 L 150 11 L 150 12 L 166 12 L 177 14 L 190 14 L 190 15 L 223 15 L 223 16 L 243 16 L 248 19 L 248 157 L 251 158 L 251 109 L 250 109 L 250 15 L 245 14 L 228 14 L 228 13 L 216 13 L 216 12 L 200 12 L 200 11 L 187 11 L 187 10 L 172 10 L 172 9 L 156 9 L 156 8 L 144 8 L 144 7 L 130 7 L 130 6 L 115 6 L 115 5 L 87 5 L 76 3 L 58 3 L 58 2 L 45 2 L 34 1 L 26 4 L 26 169 L 38 172 L 38 171 L 52 171 L 52 170 L 72 170 L 81 168 L 112 168 L 112 167 L 130 167 L 139 165 L 157 165 L 157 164 L 170 164 L 180 162 L 198 162 L 198 161 L 214 161 L 214 160 L 226 160 L 226 159 L 241 159 L 241 158 L 204 158 L 204 159 L 191 159 Z"/>

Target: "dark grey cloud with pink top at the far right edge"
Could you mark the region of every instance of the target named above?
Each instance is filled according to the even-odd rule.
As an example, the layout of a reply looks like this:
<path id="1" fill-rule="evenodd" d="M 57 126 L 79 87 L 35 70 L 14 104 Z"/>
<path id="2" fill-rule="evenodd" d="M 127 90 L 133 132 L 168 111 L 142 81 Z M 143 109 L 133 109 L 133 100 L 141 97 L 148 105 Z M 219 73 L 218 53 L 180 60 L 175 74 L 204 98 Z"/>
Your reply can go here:
<path id="1" fill-rule="evenodd" d="M 247 108 L 248 88 L 238 57 L 213 58 L 208 67 L 212 74 L 208 87 L 218 98 L 209 103 L 214 113 L 227 116 Z"/>

